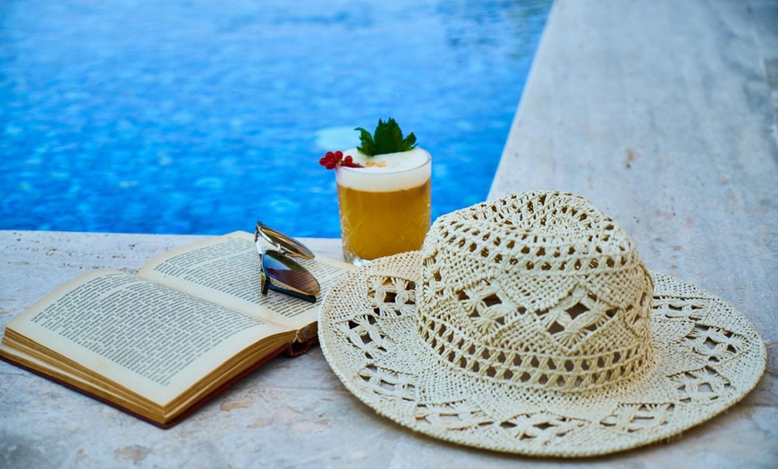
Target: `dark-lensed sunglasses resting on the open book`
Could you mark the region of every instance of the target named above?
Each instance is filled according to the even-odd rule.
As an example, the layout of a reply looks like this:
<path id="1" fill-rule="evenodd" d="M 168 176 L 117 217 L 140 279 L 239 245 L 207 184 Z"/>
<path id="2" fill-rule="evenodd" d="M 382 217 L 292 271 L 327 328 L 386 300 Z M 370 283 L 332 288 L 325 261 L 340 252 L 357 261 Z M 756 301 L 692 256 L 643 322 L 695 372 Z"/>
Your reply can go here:
<path id="1" fill-rule="evenodd" d="M 258 243 L 259 236 L 273 245 L 275 249 L 267 249 Z M 262 294 L 268 290 L 288 294 L 302 300 L 316 303 L 316 295 L 321 290 L 318 281 L 308 269 L 302 267 L 289 256 L 302 259 L 313 259 L 314 255 L 303 243 L 290 235 L 284 235 L 278 230 L 257 222 L 254 230 L 254 243 L 257 245 L 259 260 L 262 262 Z"/>

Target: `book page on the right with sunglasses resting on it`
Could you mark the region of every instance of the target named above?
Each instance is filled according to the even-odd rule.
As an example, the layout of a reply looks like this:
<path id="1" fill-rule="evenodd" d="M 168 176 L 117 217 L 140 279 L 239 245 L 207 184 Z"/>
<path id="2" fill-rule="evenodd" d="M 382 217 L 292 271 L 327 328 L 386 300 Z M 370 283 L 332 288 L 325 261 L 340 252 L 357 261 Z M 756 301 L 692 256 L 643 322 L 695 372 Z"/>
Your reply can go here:
<path id="1" fill-rule="evenodd" d="M 259 243 L 264 241 L 260 238 Z M 166 252 L 148 262 L 138 275 L 263 320 L 301 329 L 316 323 L 324 295 L 353 266 L 322 257 L 294 260 L 317 278 L 321 293 L 316 303 L 272 290 L 262 296 L 262 263 L 254 235 L 242 231 Z"/>

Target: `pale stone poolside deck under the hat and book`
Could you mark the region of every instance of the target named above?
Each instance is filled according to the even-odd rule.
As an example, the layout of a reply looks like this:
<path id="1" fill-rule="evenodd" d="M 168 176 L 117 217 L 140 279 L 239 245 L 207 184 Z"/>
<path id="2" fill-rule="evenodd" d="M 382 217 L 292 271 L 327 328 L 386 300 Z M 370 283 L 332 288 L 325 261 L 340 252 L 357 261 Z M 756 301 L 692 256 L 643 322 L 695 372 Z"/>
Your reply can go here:
<path id="1" fill-rule="evenodd" d="M 490 198 L 575 192 L 649 269 L 734 304 L 768 350 L 757 389 L 671 444 L 578 461 L 778 464 L 778 2 L 558 0 Z M 92 269 L 134 271 L 202 236 L 0 231 L 0 324 Z M 338 240 L 305 240 L 340 255 Z M 84 423 L 89 422 L 89 423 Z M 169 431 L 0 362 L 0 466 L 562 465 L 406 431 L 320 350 L 279 359 Z"/>

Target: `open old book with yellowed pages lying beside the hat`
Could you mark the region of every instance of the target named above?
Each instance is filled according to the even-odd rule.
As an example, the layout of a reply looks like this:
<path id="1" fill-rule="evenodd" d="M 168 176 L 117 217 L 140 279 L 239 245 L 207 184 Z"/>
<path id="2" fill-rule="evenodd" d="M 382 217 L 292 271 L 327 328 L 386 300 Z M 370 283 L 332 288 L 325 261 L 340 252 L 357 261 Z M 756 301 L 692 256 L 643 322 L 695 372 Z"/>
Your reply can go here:
<path id="1" fill-rule="evenodd" d="M 90 272 L 11 320 L 0 358 L 168 428 L 275 355 L 316 340 L 322 297 L 351 266 L 300 264 L 321 284 L 317 303 L 262 296 L 245 232 L 166 252 L 137 276 Z"/>

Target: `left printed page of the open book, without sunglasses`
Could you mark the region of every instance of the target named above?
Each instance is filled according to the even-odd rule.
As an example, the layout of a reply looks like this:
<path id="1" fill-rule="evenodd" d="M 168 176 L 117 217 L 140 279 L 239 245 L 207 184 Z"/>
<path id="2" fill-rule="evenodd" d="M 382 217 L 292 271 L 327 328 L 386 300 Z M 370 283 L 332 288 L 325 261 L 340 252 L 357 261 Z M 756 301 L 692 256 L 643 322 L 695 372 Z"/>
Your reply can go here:
<path id="1" fill-rule="evenodd" d="M 118 271 L 90 272 L 6 326 L 165 405 L 224 362 L 289 328 Z"/>

